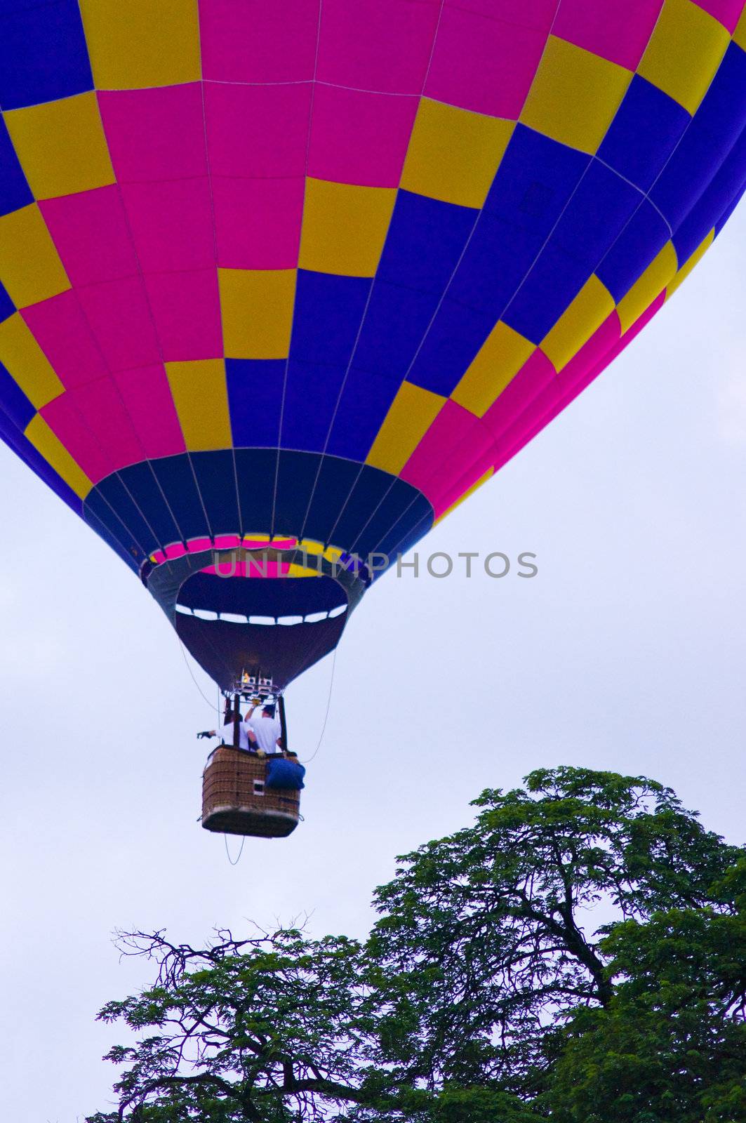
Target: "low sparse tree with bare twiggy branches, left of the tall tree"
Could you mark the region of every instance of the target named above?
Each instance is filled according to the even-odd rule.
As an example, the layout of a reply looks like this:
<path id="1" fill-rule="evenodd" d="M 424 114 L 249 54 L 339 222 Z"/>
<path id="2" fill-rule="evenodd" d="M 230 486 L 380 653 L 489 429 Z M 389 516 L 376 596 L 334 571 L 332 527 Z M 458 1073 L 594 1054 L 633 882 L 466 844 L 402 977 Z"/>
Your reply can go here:
<path id="1" fill-rule="evenodd" d="M 128 1068 L 115 1086 L 118 1112 L 95 1123 L 284 1123 L 326 1119 L 329 1103 L 356 1099 L 367 1049 L 355 941 L 289 929 L 244 940 L 222 931 L 202 949 L 163 932 L 127 933 L 119 944 L 154 959 L 157 977 L 99 1017 L 157 1032 L 109 1051 Z"/>

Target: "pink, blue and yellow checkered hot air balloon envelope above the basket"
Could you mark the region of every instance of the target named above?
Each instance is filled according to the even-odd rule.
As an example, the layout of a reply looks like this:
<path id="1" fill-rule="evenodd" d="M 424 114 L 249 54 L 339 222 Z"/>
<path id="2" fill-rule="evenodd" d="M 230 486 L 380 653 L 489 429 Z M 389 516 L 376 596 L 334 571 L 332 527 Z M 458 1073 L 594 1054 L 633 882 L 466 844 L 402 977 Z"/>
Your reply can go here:
<path id="1" fill-rule="evenodd" d="M 2 0 L 0 433 L 224 691 L 334 649 L 699 261 L 743 8 Z"/>

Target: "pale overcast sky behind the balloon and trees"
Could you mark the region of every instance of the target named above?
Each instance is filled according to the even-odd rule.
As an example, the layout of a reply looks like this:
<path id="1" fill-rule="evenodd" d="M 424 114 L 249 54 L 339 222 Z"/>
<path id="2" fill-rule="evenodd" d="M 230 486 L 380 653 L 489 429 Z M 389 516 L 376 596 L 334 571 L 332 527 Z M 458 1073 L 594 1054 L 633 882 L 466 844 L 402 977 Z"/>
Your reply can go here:
<path id="1" fill-rule="evenodd" d="M 744 841 L 746 210 L 631 347 L 418 550 L 537 555 L 530 581 L 384 577 L 343 636 L 304 822 L 200 830 L 215 710 L 135 576 L 0 447 L 3 1017 L 0 1117 L 112 1103 L 97 1010 L 151 978 L 115 928 L 363 935 L 394 855 L 484 787 L 588 765 L 673 786 Z M 301 757 L 331 658 L 288 693 Z M 216 690 L 194 668 L 212 700 Z M 230 843 L 231 853 L 237 846 Z"/>

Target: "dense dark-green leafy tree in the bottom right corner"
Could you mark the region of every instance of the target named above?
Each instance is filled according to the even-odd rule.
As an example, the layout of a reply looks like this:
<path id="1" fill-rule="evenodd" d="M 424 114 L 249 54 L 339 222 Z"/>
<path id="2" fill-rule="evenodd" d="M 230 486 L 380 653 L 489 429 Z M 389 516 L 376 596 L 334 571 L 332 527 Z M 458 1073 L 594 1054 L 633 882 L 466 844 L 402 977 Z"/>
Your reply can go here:
<path id="1" fill-rule="evenodd" d="M 713 887 L 719 909 L 615 925 L 618 977 L 603 1010 L 577 1012 L 546 1103 L 557 1123 L 746 1120 L 746 862 Z"/>

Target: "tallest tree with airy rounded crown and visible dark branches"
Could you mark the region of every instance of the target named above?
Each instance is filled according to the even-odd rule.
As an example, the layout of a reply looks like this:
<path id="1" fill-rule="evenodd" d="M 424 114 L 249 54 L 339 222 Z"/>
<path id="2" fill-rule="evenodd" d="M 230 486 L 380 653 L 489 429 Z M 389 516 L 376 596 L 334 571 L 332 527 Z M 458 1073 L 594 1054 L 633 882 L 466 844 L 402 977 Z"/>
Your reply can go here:
<path id="1" fill-rule="evenodd" d="M 611 1001 L 603 931 L 719 909 L 710 886 L 740 851 L 643 777 L 540 769 L 476 805 L 474 827 L 408 855 L 376 892 L 381 1047 L 402 1081 L 537 1096 L 558 1028 Z"/>

